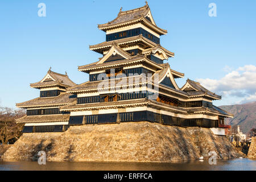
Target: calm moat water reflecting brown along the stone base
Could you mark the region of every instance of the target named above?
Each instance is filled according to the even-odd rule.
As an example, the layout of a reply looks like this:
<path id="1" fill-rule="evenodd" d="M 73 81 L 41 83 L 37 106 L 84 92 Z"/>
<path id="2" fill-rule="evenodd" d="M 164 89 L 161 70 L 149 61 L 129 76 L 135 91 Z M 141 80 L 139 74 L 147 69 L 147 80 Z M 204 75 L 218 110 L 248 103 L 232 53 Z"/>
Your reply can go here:
<path id="1" fill-rule="evenodd" d="M 0 160 L 0 171 L 256 171 L 256 160 L 186 160 L 174 163 L 126 163 L 126 162 L 5 162 Z"/>

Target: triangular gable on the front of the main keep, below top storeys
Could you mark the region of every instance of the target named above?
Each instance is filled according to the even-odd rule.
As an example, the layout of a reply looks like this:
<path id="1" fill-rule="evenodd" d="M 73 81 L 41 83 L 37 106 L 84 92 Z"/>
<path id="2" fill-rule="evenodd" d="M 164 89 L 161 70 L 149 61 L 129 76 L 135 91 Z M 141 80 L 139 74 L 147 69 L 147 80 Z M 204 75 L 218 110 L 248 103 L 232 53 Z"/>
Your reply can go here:
<path id="1" fill-rule="evenodd" d="M 102 57 L 102 59 L 97 62 L 97 64 L 102 64 L 108 60 L 113 61 L 113 60 L 131 59 L 131 58 L 132 58 L 132 56 L 128 52 L 123 51 L 123 49 L 120 48 L 117 45 L 117 43 L 113 42 L 112 47 L 110 48 L 109 52 L 106 53 L 106 55 L 104 55 Z"/>

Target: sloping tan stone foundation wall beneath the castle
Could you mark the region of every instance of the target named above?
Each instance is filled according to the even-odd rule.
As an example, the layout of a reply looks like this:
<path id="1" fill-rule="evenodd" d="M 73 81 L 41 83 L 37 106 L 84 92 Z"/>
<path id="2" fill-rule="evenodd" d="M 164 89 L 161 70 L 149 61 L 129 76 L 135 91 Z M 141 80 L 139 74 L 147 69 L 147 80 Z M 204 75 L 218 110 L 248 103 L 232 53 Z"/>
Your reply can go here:
<path id="1" fill-rule="evenodd" d="M 236 148 L 210 129 L 150 122 L 71 126 L 65 133 L 28 133 L 7 150 L 4 159 L 37 159 L 46 151 L 51 161 L 171 162 L 179 159 L 238 158 Z"/>

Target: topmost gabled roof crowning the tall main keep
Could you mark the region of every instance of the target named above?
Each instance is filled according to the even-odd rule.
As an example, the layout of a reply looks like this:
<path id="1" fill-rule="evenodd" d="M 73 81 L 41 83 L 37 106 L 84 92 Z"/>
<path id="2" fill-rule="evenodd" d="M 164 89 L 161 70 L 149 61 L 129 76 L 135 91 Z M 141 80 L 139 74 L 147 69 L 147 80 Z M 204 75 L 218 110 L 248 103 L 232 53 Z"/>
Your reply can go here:
<path id="1" fill-rule="evenodd" d="M 167 34 L 167 30 L 163 30 L 162 28 L 156 26 L 147 2 L 146 5 L 143 7 L 139 7 L 137 9 L 129 11 L 122 11 L 121 8 L 117 15 L 117 18 L 108 23 L 98 24 L 98 28 L 100 30 L 106 31 L 111 28 L 117 28 L 136 22 L 142 22 L 146 24 L 148 27 L 157 31 L 160 35 Z"/>

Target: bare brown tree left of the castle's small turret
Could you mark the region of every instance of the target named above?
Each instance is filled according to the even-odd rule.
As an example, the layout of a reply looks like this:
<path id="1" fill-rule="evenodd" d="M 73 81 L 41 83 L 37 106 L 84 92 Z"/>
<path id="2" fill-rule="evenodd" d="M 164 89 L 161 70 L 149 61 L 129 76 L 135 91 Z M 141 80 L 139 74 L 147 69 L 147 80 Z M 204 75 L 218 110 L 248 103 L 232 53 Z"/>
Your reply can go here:
<path id="1" fill-rule="evenodd" d="M 16 123 L 15 119 L 23 117 L 25 110 L 13 110 L 9 107 L 0 107 L 0 143 L 14 143 L 22 135 L 23 124 Z"/>

